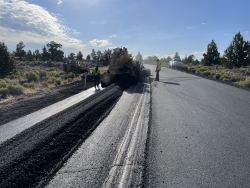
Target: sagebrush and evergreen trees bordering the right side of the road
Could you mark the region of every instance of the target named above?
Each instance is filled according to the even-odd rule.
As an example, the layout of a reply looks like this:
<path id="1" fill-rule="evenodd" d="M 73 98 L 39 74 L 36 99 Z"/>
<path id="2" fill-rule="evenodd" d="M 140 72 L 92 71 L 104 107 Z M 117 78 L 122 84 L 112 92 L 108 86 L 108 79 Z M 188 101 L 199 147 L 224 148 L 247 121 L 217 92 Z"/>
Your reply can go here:
<path id="1" fill-rule="evenodd" d="M 156 59 L 157 56 L 149 56 L 144 60 L 144 63 L 155 64 Z M 170 61 L 174 59 L 183 64 L 170 66 Z M 195 59 L 194 55 L 186 55 L 181 60 L 178 52 L 175 53 L 173 58 L 168 56 L 167 58 L 161 58 L 160 61 L 162 66 L 211 78 L 214 78 L 214 67 L 216 65 L 216 79 L 250 88 L 250 41 L 245 41 L 240 32 L 234 36 L 223 56 L 220 55 L 216 43 L 212 40 L 200 61 Z"/>

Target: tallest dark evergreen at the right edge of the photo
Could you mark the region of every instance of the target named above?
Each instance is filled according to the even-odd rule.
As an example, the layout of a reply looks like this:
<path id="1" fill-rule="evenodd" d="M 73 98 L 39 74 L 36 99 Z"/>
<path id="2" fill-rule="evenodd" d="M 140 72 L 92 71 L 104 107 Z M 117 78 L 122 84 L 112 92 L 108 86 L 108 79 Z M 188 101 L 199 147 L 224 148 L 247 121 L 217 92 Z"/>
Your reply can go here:
<path id="1" fill-rule="evenodd" d="M 247 66 L 247 50 L 248 50 L 248 43 L 243 39 L 243 36 L 237 33 L 233 41 L 224 51 L 224 57 L 228 60 L 228 66 Z"/>

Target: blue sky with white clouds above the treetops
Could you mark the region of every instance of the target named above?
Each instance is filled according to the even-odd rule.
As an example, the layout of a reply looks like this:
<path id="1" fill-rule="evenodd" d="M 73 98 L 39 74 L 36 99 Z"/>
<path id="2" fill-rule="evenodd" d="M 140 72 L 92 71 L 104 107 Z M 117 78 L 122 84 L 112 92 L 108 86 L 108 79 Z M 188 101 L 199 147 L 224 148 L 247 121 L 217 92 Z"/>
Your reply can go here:
<path id="1" fill-rule="evenodd" d="M 10 52 L 55 41 L 66 56 L 122 46 L 200 60 L 212 40 L 221 56 L 238 32 L 250 41 L 249 18 L 250 0 L 0 0 L 0 41 Z"/>

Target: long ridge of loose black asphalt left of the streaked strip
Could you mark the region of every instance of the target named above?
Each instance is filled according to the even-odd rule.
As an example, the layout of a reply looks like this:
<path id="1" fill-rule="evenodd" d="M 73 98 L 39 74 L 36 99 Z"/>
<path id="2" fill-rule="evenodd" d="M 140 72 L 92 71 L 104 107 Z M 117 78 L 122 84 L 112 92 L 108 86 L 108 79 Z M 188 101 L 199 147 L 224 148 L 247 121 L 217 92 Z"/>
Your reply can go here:
<path id="1" fill-rule="evenodd" d="M 43 187 L 110 112 L 122 92 L 112 84 L 2 143 L 0 187 Z"/>

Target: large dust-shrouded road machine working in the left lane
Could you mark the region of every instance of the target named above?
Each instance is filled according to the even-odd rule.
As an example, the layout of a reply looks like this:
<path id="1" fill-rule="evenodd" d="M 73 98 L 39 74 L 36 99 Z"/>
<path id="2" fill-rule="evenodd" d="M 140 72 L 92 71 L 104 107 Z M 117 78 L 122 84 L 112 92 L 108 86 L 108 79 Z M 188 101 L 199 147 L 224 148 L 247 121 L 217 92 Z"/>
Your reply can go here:
<path id="1" fill-rule="evenodd" d="M 113 50 L 113 59 L 109 65 L 106 76 L 101 80 L 101 86 L 107 87 L 115 82 L 134 85 L 150 75 L 139 61 L 134 61 L 127 48 L 116 48 Z"/>

